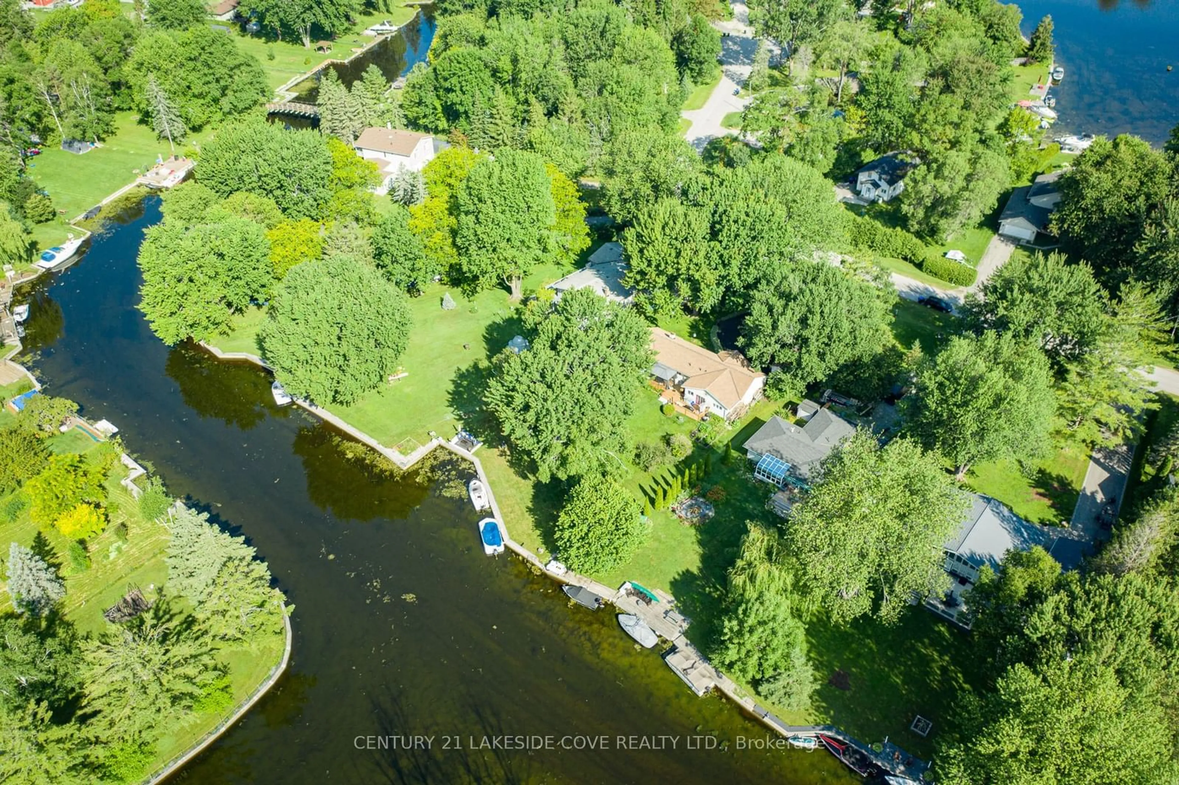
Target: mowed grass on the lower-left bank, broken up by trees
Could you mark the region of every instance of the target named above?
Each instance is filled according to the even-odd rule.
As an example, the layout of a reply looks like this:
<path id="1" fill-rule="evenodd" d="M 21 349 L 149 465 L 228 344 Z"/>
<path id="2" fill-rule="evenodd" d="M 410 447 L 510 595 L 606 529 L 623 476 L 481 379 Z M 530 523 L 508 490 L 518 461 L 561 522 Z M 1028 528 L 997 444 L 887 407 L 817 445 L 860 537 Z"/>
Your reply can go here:
<path id="1" fill-rule="evenodd" d="M 18 392 L 18 385 L 0 388 L 0 400 L 6 401 Z M 6 409 L 0 410 L 0 438 L 4 431 L 15 424 L 15 417 Z M 97 455 L 99 444 L 84 433 L 74 429 L 50 438 L 54 453 L 79 453 L 88 457 Z M 107 512 L 111 525 L 90 543 L 91 567 L 77 572 L 65 558 L 68 541 L 57 529 L 41 529 L 29 517 L 27 503 L 17 513 L 15 502 L 21 492 L 0 496 L 0 542 L 19 542 L 33 546 L 38 535 L 42 536 L 55 554 L 55 566 L 65 578 L 66 596 L 62 609 L 67 620 L 81 634 L 98 635 L 108 627 L 103 612 L 114 605 L 129 586 L 139 587 L 145 596 L 154 599 L 167 578 L 164 563 L 169 536 L 167 528 L 156 521 L 146 521 L 139 515 L 138 503 L 119 484 L 126 476 L 126 468 L 116 463 L 106 481 Z M 118 523 L 126 526 L 126 542 L 119 543 L 116 535 Z M 7 553 L 7 550 L 6 550 Z M 183 605 L 183 603 L 178 603 Z M 7 592 L 0 592 L 0 612 L 12 609 Z M 252 647 L 223 647 L 217 659 L 229 667 L 233 706 L 245 700 L 270 669 L 282 659 L 284 638 L 282 634 L 259 641 Z M 222 719 L 219 713 L 195 714 L 187 721 L 166 728 L 156 746 L 156 756 L 150 771 L 163 766 L 177 754 L 191 747 Z"/>

